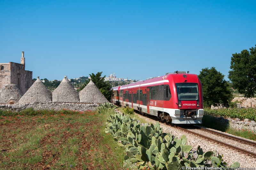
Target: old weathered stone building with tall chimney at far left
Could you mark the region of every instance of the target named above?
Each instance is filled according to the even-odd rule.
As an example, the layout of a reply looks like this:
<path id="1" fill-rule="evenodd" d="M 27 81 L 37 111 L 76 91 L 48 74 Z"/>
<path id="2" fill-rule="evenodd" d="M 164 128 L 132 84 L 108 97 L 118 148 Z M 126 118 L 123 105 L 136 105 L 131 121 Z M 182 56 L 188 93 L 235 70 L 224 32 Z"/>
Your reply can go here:
<path id="1" fill-rule="evenodd" d="M 28 91 L 33 84 L 32 71 L 25 70 L 24 51 L 19 63 L 0 63 L 0 88 L 5 84 L 15 84 L 22 94 Z"/>

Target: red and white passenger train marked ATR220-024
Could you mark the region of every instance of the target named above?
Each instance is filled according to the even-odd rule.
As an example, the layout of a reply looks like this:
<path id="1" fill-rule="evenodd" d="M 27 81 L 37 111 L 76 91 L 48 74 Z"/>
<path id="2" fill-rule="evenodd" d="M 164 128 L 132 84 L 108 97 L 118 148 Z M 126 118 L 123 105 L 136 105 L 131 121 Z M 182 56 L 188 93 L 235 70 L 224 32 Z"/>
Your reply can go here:
<path id="1" fill-rule="evenodd" d="M 113 87 L 112 102 L 173 124 L 202 123 L 202 84 L 196 74 L 188 73 L 176 71 Z"/>

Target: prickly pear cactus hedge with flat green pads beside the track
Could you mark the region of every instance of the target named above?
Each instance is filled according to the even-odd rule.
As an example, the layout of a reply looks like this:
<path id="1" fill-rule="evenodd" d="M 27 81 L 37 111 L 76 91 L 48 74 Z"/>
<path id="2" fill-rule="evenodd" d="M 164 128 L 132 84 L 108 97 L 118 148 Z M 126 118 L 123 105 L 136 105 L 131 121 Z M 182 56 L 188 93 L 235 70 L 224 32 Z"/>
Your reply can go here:
<path id="1" fill-rule="evenodd" d="M 126 163 L 132 163 L 132 170 L 164 169 L 179 170 L 182 167 L 226 167 L 222 156 L 214 152 L 203 152 L 197 148 L 198 157 L 194 158 L 192 146 L 186 145 L 187 138 L 173 137 L 170 133 L 163 133 L 159 122 L 156 125 L 141 123 L 129 115 L 110 115 L 106 122 L 105 133 L 111 133 L 117 144 L 125 148 Z M 238 162 L 230 167 L 239 167 Z"/>

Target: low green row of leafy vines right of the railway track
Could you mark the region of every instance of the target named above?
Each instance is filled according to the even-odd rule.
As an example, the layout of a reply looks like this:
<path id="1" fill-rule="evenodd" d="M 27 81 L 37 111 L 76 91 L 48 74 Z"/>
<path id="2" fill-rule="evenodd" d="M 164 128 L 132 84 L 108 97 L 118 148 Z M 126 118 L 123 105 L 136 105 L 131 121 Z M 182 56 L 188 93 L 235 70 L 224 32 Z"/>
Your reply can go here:
<path id="1" fill-rule="evenodd" d="M 204 113 L 211 116 L 222 116 L 230 118 L 249 119 L 256 121 L 256 109 L 255 108 L 223 108 L 223 109 L 209 109 L 204 108 Z"/>

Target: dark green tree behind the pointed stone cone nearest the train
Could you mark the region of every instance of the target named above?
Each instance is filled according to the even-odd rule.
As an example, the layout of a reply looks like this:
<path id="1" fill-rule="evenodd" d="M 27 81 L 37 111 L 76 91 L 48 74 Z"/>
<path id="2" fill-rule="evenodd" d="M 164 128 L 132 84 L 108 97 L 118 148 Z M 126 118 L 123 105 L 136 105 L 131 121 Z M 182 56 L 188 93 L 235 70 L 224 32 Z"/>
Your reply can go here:
<path id="1" fill-rule="evenodd" d="M 108 81 L 104 81 L 105 77 L 101 77 L 102 72 L 98 72 L 97 74 L 89 74 L 91 76 L 92 82 L 98 87 L 100 92 L 106 97 L 108 101 L 111 100 L 111 94 L 113 90 L 111 90 L 111 85 Z M 81 91 L 84 87 L 90 82 L 90 78 L 85 81 L 85 84 L 82 85 L 77 91 Z"/>

